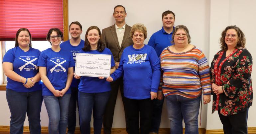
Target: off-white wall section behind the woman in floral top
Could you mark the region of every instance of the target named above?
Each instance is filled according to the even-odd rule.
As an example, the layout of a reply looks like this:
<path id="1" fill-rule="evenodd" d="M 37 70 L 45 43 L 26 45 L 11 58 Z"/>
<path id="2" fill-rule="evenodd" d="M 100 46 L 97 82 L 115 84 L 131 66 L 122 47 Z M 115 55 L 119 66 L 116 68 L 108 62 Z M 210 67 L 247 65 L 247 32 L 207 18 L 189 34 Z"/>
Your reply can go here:
<path id="1" fill-rule="evenodd" d="M 221 32 L 230 25 L 236 25 L 239 27 L 246 37 L 246 48 L 250 51 L 253 58 L 256 54 L 253 50 L 256 50 L 255 44 L 255 21 L 256 19 L 252 15 L 256 14 L 255 0 L 211 0 L 210 2 L 210 47 L 209 47 L 209 61 L 213 59 L 213 56 L 220 50 L 219 37 Z M 253 59 L 255 63 L 255 59 Z M 252 69 L 252 85 L 255 91 L 255 66 Z M 255 97 L 254 97 L 255 101 Z M 215 111 L 211 114 L 212 105 L 207 107 L 207 129 L 222 129 L 222 124 L 219 120 L 218 113 Z M 249 108 L 248 115 L 248 127 L 256 127 L 256 111 L 255 104 Z"/>

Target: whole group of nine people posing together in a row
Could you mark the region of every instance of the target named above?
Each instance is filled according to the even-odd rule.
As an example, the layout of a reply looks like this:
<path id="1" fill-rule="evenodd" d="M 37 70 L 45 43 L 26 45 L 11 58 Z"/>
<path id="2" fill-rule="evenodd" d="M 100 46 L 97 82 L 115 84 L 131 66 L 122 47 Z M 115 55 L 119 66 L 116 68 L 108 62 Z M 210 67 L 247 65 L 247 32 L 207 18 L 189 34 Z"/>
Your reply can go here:
<path id="1" fill-rule="evenodd" d="M 16 33 L 15 47 L 3 58 L 7 76 L 6 98 L 11 112 L 10 133 L 23 133 L 26 113 L 31 134 L 41 133 L 40 112 L 44 100 L 49 134 L 73 134 L 76 105 L 80 132 L 90 133 L 91 114 L 95 134 L 110 134 L 120 89 L 129 134 L 157 134 L 164 99 L 172 134 L 198 133 L 200 101 L 218 111 L 225 134 L 247 133 L 248 109 L 252 105 L 252 56 L 245 37 L 236 26 L 221 34 L 221 50 L 211 66 L 202 50 L 191 43 L 184 25 L 174 27 L 175 14 L 162 14 L 163 27 L 148 42 L 143 24 L 125 23 L 126 10 L 114 7 L 116 23 L 100 32 L 91 26 L 80 38 L 79 22 L 69 25 L 71 39 L 61 43 L 63 33 L 52 28 L 52 45 L 42 52 L 32 48 L 28 29 Z M 76 53 L 111 55 L 110 77 L 73 75 Z M 74 77 L 74 78 L 73 78 Z M 41 80 L 43 83 L 41 83 Z"/>

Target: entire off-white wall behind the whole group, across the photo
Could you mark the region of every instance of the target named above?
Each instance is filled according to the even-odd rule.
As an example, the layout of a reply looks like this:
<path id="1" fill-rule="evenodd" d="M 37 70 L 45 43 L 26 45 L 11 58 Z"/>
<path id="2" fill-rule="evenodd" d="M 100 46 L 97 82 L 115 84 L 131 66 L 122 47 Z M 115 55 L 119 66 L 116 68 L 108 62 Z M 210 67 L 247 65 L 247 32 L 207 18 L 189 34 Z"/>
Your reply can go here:
<path id="1" fill-rule="evenodd" d="M 161 29 L 162 13 L 166 10 L 171 10 L 176 14 L 175 26 L 183 24 L 188 27 L 192 39 L 191 43 L 202 49 L 209 62 L 220 49 L 218 44 L 220 33 L 229 25 L 237 25 L 242 29 L 247 39 L 246 47 L 255 57 L 252 51 L 255 50 L 255 45 L 253 45 L 254 42 L 252 41 L 256 35 L 256 29 L 253 25 L 256 22 L 254 18 L 256 1 L 254 0 L 69 0 L 68 23 L 70 24 L 73 21 L 80 22 L 83 26 L 83 34 L 81 36 L 84 39 L 88 27 L 94 25 L 102 30 L 114 24 L 115 21 L 112 14 L 116 5 L 123 5 L 126 8 L 126 23 L 129 26 L 135 23 L 142 23 L 147 27 L 148 38 L 145 40 L 146 44 L 150 36 Z M 255 68 L 253 68 L 254 72 Z M 254 74 L 252 79 L 252 85 L 254 86 L 254 80 L 256 79 Z M 2 106 L 0 110 L 0 125 L 9 125 L 10 112 L 5 91 L 0 92 L 0 104 Z M 211 114 L 211 106 L 211 103 L 203 105 L 200 127 L 222 129 L 217 113 Z M 256 120 L 256 115 L 253 114 L 253 111 L 256 111 L 255 109 L 255 106 L 249 109 L 248 127 L 256 127 L 255 123 L 253 123 Z M 41 120 L 42 126 L 48 126 L 48 115 L 44 104 L 42 105 Z M 166 106 L 164 105 L 160 127 L 166 128 L 169 127 L 169 124 Z M 27 120 L 24 125 L 28 126 Z M 120 94 L 116 102 L 113 127 L 125 127 Z"/>

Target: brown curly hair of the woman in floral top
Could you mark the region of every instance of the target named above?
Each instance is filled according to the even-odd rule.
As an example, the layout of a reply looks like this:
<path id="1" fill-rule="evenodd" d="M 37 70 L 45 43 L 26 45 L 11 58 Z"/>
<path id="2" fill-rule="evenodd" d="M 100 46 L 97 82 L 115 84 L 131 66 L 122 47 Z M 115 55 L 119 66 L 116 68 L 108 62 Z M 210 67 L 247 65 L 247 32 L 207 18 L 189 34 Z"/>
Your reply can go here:
<path id="1" fill-rule="evenodd" d="M 246 43 L 244 33 L 241 31 L 241 29 L 239 29 L 238 27 L 236 27 L 236 25 L 234 25 L 234 26 L 228 26 L 228 27 L 226 27 L 226 29 L 224 31 L 222 31 L 221 37 L 219 38 L 221 50 L 223 50 L 223 51 L 227 50 L 227 44 L 225 42 L 225 36 L 226 36 L 227 30 L 229 30 L 229 29 L 234 29 L 237 32 L 238 42 L 237 42 L 235 48 L 239 48 L 239 47 L 244 48 L 245 43 Z"/>

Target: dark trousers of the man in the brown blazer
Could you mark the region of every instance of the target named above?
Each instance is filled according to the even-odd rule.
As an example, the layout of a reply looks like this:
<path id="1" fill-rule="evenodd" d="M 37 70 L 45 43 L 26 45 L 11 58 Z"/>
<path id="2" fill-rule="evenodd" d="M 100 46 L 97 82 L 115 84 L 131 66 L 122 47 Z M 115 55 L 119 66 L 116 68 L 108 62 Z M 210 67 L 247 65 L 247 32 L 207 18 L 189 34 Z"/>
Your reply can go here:
<path id="1" fill-rule="evenodd" d="M 122 101 L 124 104 L 124 84 L 123 84 L 123 78 L 119 78 L 116 81 L 113 81 L 111 84 L 111 94 L 109 97 L 109 100 L 107 102 L 107 106 L 103 115 L 103 126 L 104 126 L 104 133 L 110 134 L 111 128 L 113 124 L 113 117 L 114 117 L 114 111 L 115 111 L 115 105 L 116 105 L 116 97 L 118 93 L 118 89 L 120 87 L 120 93 L 122 97 Z M 125 104 L 124 104 L 124 114 L 125 114 L 125 123 L 126 123 L 126 131 L 129 132 L 129 128 L 127 126 L 127 115 L 125 110 Z"/>

